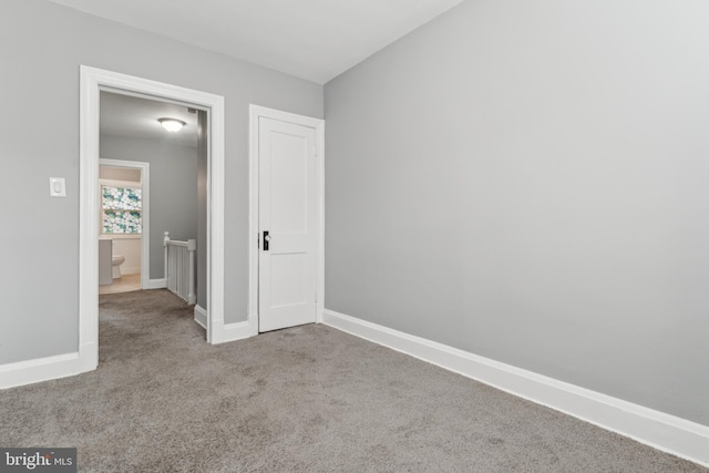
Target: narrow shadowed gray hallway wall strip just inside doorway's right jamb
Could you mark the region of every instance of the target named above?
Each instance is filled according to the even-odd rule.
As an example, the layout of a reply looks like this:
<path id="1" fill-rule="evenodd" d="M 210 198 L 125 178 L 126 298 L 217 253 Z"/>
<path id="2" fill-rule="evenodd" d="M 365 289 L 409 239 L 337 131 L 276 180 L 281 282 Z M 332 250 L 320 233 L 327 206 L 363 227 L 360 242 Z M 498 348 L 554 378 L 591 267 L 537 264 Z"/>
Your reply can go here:
<path id="1" fill-rule="evenodd" d="M 197 305 L 207 307 L 207 113 L 197 112 Z"/>

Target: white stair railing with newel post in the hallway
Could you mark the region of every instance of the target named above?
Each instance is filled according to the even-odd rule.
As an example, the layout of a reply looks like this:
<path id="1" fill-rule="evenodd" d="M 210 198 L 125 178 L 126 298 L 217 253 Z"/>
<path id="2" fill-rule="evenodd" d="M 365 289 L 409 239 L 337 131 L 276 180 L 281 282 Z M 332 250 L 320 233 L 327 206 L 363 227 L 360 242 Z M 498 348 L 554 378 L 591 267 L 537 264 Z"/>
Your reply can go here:
<path id="1" fill-rule="evenodd" d="M 165 247 L 165 279 L 167 289 L 186 300 L 197 304 L 195 295 L 195 250 L 197 240 L 178 241 L 169 239 L 169 232 L 165 232 L 163 239 Z"/>

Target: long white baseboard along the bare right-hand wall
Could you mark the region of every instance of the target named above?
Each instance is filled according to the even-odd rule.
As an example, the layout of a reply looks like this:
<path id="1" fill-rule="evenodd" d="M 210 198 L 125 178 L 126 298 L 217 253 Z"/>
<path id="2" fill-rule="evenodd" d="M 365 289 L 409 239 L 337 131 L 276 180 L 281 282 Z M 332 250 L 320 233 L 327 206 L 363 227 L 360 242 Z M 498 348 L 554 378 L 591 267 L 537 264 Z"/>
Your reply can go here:
<path id="1" fill-rule="evenodd" d="M 325 309 L 323 323 L 709 466 L 709 426 Z"/>

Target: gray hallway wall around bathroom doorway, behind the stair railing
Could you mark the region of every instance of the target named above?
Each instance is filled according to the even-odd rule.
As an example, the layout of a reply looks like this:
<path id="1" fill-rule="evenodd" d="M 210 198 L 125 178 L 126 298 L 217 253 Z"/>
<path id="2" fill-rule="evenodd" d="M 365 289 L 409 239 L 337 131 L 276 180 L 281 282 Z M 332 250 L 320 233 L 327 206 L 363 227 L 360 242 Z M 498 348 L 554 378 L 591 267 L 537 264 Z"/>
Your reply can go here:
<path id="1" fill-rule="evenodd" d="M 101 134 L 101 157 L 141 161 L 151 166 L 151 279 L 165 277 L 163 237 L 197 238 L 197 148 L 168 137 L 137 138 Z"/>

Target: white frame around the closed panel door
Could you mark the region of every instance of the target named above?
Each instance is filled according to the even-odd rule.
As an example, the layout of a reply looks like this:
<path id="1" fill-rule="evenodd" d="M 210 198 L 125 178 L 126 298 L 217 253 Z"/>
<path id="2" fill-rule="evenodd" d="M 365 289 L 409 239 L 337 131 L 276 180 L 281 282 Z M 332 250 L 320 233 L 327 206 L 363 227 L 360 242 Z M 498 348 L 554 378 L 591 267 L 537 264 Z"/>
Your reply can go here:
<path id="1" fill-rule="evenodd" d="M 316 322 L 322 322 L 325 302 L 325 121 L 280 110 L 249 105 L 249 253 L 248 253 L 248 328 L 251 336 L 258 335 L 258 120 L 260 117 L 279 120 L 308 126 L 316 131 Z"/>

